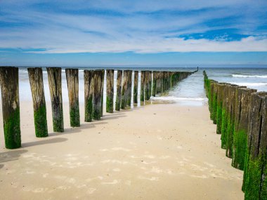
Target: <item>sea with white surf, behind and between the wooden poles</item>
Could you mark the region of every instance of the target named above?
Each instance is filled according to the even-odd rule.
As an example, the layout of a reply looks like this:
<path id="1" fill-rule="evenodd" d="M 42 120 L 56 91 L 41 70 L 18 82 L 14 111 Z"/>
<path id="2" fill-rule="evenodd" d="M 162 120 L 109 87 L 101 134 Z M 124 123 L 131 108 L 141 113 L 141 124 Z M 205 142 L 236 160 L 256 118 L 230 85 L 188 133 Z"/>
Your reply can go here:
<path id="1" fill-rule="evenodd" d="M 84 69 L 92 68 L 79 68 L 79 102 L 84 103 Z M 122 68 L 126 69 L 126 68 Z M 127 68 L 129 69 L 129 68 Z M 132 70 L 139 71 L 139 81 L 138 81 L 138 100 L 140 100 L 140 88 L 141 88 L 141 70 L 143 67 L 134 67 Z M 146 68 L 150 70 L 165 70 L 165 71 L 194 71 L 194 68 L 190 67 L 171 67 L 171 68 Z M 178 103 L 181 105 L 204 105 L 207 104 L 207 98 L 204 92 L 203 83 L 203 70 L 206 70 L 207 75 L 210 79 L 214 79 L 220 82 L 228 82 L 231 84 L 237 84 L 240 86 L 247 86 L 249 88 L 255 88 L 258 91 L 267 91 L 267 68 L 240 68 L 240 67 L 226 67 L 226 68 L 201 68 L 199 72 L 188 76 L 187 79 L 183 79 L 174 88 L 169 91 L 157 95 L 155 98 L 152 97 L 151 101 L 146 102 L 149 104 L 159 103 L 159 102 L 171 102 Z M 50 102 L 50 93 L 48 88 L 47 72 L 44 68 L 44 91 L 46 102 Z M 114 88 L 116 94 L 117 86 L 117 70 L 115 70 Z M 26 67 L 20 67 L 19 71 L 19 81 L 20 81 L 20 101 L 32 101 L 32 93 L 30 91 L 30 82 L 27 74 Z M 65 76 L 65 69 L 62 69 L 62 86 L 63 86 L 63 102 L 68 102 L 67 96 L 67 81 Z M 104 106 L 105 106 L 105 93 L 106 93 L 106 81 L 104 79 Z M 133 94 L 133 87 L 132 87 Z M 133 98 L 133 97 L 132 97 Z M 140 106 L 141 102 L 138 101 Z M 133 107 L 133 105 L 131 105 Z"/>

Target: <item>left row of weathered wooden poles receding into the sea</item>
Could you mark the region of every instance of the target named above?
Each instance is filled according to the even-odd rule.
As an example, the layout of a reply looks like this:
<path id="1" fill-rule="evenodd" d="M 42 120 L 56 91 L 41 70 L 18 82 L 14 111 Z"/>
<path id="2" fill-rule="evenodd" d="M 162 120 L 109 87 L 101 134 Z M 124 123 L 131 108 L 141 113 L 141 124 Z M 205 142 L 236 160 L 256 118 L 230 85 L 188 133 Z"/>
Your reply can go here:
<path id="1" fill-rule="evenodd" d="M 47 67 L 48 84 L 51 95 L 53 131 L 63 132 L 62 70 Z M 44 96 L 43 71 L 40 67 L 27 69 L 34 107 L 35 135 L 48 136 L 46 121 L 46 100 Z M 79 69 L 65 69 L 70 104 L 70 126 L 80 126 L 79 114 Z M 117 70 L 117 95 L 115 110 L 131 107 L 131 70 Z M 141 71 L 141 102 L 150 96 L 167 91 L 193 72 L 151 72 Z M 100 120 L 103 116 L 103 86 L 105 70 L 84 70 L 84 121 Z M 153 76 L 152 76 L 153 74 Z M 107 96 L 106 112 L 113 112 L 114 69 L 106 69 Z M 0 67 L 2 112 L 5 145 L 8 149 L 21 147 L 20 102 L 18 87 L 18 67 Z M 133 103 L 138 102 L 138 71 L 134 71 Z"/>

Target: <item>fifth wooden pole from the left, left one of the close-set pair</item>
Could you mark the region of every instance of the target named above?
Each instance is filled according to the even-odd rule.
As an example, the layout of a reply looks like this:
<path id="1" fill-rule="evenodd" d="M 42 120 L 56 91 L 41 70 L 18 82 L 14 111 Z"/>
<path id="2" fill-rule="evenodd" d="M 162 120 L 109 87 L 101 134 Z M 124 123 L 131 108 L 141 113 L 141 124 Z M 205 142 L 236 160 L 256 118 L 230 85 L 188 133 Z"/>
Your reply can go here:
<path id="1" fill-rule="evenodd" d="M 93 121 L 93 71 L 84 70 L 84 121 Z"/>

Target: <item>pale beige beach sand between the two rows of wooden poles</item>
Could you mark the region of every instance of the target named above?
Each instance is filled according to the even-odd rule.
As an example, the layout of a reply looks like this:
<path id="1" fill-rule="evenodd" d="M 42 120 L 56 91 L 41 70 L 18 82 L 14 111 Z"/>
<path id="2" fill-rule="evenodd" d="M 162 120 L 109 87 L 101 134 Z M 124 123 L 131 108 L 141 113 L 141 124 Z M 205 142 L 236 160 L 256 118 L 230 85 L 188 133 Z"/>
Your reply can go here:
<path id="1" fill-rule="evenodd" d="M 4 148 L 0 117 L 0 199 L 244 198 L 207 105 L 146 105 L 80 128 L 65 105 L 65 133 L 47 107 L 49 137 L 35 138 L 32 103 L 21 103 L 20 149 Z"/>

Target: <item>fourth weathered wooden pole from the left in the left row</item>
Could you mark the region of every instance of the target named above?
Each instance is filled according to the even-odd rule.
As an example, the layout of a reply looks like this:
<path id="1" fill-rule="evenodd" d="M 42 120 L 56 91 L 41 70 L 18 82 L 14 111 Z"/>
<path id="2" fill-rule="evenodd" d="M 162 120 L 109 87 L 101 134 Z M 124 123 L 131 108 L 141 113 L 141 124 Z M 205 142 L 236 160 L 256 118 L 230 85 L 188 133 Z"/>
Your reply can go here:
<path id="1" fill-rule="evenodd" d="M 70 126 L 79 127 L 79 69 L 65 69 L 70 105 Z"/>

